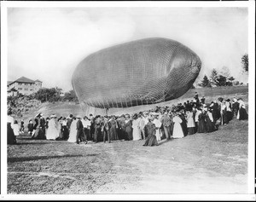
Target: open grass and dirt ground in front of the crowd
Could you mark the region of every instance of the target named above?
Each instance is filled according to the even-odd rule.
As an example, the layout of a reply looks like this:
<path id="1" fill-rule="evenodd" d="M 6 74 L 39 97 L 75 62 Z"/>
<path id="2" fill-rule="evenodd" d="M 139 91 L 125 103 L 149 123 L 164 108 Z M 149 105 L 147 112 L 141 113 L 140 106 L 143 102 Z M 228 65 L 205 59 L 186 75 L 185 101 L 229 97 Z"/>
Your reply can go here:
<path id="1" fill-rule="evenodd" d="M 247 137 L 235 119 L 158 147 L 20 136 L 8 146 L 8 193 L 247 193 Z"/>

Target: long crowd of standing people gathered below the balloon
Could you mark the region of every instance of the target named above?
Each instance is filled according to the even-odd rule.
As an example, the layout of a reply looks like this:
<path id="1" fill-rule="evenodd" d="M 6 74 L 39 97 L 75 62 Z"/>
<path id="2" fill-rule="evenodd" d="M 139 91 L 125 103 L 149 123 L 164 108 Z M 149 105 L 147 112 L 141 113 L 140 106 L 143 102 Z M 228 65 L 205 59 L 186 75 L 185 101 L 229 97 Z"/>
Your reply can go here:
<path id="1" fill-rule="evenodd" d="M 211 133 L 218 130 L 219 125 L 229 124 L 236 117 L 247 119 L 247 111 L 241 98 L 218 100 L 206 103 L 204 96 L 177 105 L 154 107 L 146 112 L 123 114 L 121 116 L 73 116 L 69 114 L 57 118 L 55 114 L 44 118 L 38 113 L 27 124 L 32 139 L 65 140 L 87 144 L 88 141 L 145 140 L 143 146 L 157 146 L 159 141 L 195 133 Z M 8 143 L 16 142 L 15 136 L 24 133 L 24 120 L 20 128 L 16 120 L 8 116 Z"/>

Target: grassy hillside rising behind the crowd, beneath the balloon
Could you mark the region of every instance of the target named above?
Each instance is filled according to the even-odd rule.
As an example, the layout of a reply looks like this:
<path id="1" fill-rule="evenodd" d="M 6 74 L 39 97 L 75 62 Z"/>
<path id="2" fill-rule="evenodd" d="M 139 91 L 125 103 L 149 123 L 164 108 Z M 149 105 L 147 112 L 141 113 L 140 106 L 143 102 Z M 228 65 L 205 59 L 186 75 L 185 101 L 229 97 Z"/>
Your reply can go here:
<path id="1" fill-rule="evenodd" d="M 113 108 L 109 109 L 108 114 L 123 114 L 123 113 L 138 113 L 141 111 L 148 110 L 155 106 L 169 106 L 172 104 L 177 104 L 179 102 L 184 102 L 187 100 L 191 100 L 195 92 L 197 92 L 201 98 L 201 96 L 206 97 L 206 102 L 211 102 L 213 100 L 218 99 L 219 96 L 224 97 L 224 99 L 234 97 L 242 97 L 246 102 L 248 101 L 248 86 L 231 86 L 231 87 L 218 87 L 218 88 L 201 88 L 201 89 L 189 89 L 189 91 L 178 99 L 172 101 L 166 101 L 154 105 L 146 105 L 146 106 L 137 106 L 137 107 L 129 107 L 129 108 Z M 83 112 L 79 104 L 74 102 L 46 102 L 41 104 L 36 109 L 32 109 L 29 112 L 23 114 L 23 118 L 25 119 L 25 123 L 28 123 L 30 118 L 34 118 L 38 113 L 44 113 L 45 117 L 55 113 L 57 117 L 66 116 L 70 113 L 73 115 L 81 114 L 81 115 L 89 115 L 88 113 Z M 94 114 L 105 114 L 104 110 L 97 110 Z M 20 118 L 17 118 L 18 121 Z"/>

